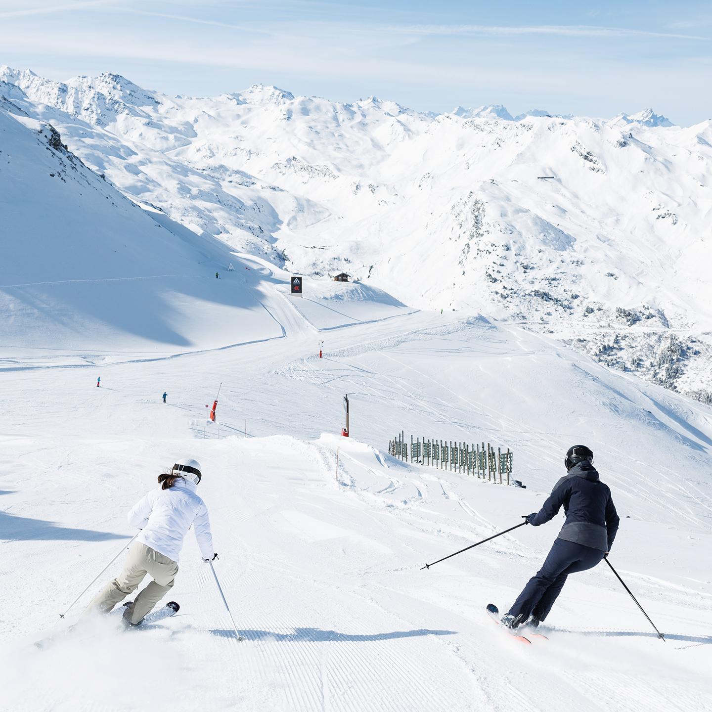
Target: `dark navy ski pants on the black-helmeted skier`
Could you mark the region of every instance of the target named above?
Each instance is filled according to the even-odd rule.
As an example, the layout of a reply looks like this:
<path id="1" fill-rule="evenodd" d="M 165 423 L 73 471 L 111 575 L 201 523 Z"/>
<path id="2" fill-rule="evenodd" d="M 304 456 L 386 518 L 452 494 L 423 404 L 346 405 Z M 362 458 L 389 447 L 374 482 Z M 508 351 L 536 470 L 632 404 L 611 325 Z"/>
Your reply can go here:
<path id="1" fill-rule="evenodd" d="M 530 616 L 543 621 L 561 593 L 569 574 L 592 569 L 605 552 L 572 541 L 557 539 L 544 565 L 530 578 L 515 600 L 509 614 L 519 617 L 518 624 Z"/>

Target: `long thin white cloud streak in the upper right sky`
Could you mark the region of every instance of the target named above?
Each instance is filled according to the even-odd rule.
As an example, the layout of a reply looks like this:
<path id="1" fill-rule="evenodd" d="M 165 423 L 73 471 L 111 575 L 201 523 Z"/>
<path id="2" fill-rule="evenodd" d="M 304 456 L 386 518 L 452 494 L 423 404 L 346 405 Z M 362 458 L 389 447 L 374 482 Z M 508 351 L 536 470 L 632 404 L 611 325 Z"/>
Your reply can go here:
<path id="1" fill-rule="evenodd" d="M 652 32 L 595 25 L 395 25 L 392 32 L 431 35 L 557 35 L 565 37 L 665 37 L 681 40 L 708 40 L 698 35 Z"/>

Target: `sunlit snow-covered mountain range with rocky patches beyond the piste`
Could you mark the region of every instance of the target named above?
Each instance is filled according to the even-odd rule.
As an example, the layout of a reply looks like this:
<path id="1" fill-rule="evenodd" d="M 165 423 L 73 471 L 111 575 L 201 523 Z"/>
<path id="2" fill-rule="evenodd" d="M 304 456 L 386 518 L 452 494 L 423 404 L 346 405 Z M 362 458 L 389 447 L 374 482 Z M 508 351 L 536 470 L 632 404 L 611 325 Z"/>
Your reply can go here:
<path id="1" fill-rule="evenodd" d="M 525 323 L 710 397 L 712 122 L 0 78 L 120 192 L 198 234 L 414 307 Z"/>

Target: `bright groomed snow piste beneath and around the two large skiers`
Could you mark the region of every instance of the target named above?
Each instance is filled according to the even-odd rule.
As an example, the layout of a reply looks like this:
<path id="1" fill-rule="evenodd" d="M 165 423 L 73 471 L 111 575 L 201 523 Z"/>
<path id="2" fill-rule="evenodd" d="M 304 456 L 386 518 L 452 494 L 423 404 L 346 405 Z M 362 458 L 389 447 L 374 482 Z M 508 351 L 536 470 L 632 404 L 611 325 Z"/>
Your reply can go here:
<path id="1" fill-rule="evenodd" d="M 711 409 L 483 318 L 318 332 L 280 293 L 286 275 L 247 257 L 240 269 L 283 338 L 101 370 L 59 352 L 0 372 L 0 708 L 712 709 Z M 334 435 L 345 392 L 351 439 Z M 527 489 L 402 464 L 385 454 L 399 429 L 510 447 Z M 560 518 L 420 570 L 537 509 L 580 441 L 622 516 L 611 561 L 668 642 L 604 565 L 567 582 L 548 642 L 493 626 L 484 605 L 511 603 Z M 110 617 L 36 649 L 133 534 L 127 508 L 185 453 L 203 465 L 216 571 L 246 640 L 189 536 L 179 615 L 142 632 Z"/>

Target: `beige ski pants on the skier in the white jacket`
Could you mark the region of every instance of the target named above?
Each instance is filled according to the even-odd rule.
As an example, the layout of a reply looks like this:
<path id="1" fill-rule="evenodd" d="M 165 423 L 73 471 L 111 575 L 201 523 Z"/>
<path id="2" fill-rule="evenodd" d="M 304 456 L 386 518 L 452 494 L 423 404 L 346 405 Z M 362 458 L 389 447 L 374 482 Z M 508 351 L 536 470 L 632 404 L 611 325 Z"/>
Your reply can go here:
<path id="1" fill-rule="evenodd" d="M 85 613 L 97 609 L 108 613 L 118 602 L 135 591 L 145 575 L 148 574 L 152 577 L 152 582 L 137 595 L 136 600 L 124 611 L 124 618 L 136 625 L 171 590 L 177 573 L 176 562 L 159 554 L 150 546 L 135 541 L 124 561 L 124 570 L 113 581 L 105 585 L 103 591 L 88 605 Z"/>

